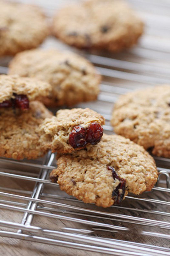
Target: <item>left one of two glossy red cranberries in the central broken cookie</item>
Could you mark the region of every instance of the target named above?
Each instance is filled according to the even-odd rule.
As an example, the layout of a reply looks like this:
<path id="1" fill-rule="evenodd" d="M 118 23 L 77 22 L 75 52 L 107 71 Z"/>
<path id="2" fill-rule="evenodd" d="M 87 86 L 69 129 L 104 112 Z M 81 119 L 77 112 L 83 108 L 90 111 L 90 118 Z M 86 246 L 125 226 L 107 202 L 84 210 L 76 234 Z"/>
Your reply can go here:
<path id="1" fill-rule="evenodd" d="M 75 126 L 69 135 L 69 144 L 73 148 L 82 148 L 87 144 L 87 130 L 81 125 Z"/>

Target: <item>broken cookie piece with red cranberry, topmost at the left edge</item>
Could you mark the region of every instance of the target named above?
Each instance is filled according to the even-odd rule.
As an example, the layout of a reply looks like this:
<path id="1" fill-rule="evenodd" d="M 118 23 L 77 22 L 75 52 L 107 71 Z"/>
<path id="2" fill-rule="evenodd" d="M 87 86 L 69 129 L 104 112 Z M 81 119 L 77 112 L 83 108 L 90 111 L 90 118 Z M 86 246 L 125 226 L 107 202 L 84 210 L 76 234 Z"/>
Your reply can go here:
<path id="1" fill-rule="evenodd" d="M 51 86 L 35 78 L 0 75 L 0 89 L 0 108 L 28 109 L 29 101 L 49 95 Z"/>

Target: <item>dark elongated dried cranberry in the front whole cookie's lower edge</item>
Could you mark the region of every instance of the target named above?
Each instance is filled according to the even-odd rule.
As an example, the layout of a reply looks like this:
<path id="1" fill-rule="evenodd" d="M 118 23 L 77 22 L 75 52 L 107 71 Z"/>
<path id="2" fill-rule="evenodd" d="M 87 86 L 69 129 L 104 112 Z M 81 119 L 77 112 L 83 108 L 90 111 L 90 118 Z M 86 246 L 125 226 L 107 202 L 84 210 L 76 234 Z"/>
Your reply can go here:
<path id="1" fill-rule="evenodd" d="M 125 188 L 126 188 L 126 180 L 120 178 L 116 174 L 115 169 L 113 167 L 107 166 L 107 169 L 112 171 L 112 177 L 114 180 L 118 179 L 120 181 L 118 186 L 112 192 L 112 199 L 114 200 L 114 202 L 116 204 L 120 204 L 120 202 L 123 200 L 123 197 L 124 197 Z"/>

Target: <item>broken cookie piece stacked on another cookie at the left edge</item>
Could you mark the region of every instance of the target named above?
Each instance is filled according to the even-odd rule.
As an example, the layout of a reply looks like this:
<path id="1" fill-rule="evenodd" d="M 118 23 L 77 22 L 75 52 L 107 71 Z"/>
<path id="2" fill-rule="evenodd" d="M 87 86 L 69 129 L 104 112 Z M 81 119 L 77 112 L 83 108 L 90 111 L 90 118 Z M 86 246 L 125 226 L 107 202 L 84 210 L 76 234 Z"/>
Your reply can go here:
<path id="1" fill-rule="evenodd" d="M 0 156 L 33 159 L 43 156 L 37 128 L 52 114 L 33 101 L 48 95 L 51 86 L 37 79 L 0 76 Z"/>

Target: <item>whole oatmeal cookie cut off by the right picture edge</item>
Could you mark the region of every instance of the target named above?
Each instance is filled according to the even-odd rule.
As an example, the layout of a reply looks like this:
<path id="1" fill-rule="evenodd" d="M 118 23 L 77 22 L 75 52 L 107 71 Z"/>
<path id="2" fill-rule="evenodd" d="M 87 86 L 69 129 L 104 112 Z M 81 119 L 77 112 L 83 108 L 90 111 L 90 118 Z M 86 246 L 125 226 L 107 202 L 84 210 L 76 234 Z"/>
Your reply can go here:
<path id="1" fill-rule="evenodd" d="M 170 158 L 170 86 L 160 85 L 120 97 L 112 126 L 117 134 Z"/>

